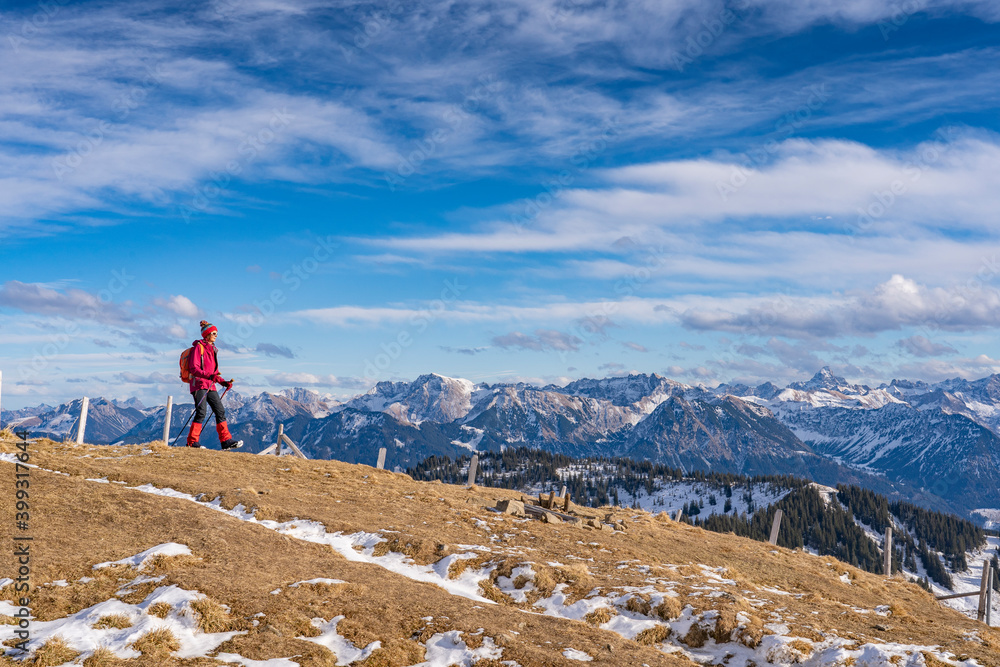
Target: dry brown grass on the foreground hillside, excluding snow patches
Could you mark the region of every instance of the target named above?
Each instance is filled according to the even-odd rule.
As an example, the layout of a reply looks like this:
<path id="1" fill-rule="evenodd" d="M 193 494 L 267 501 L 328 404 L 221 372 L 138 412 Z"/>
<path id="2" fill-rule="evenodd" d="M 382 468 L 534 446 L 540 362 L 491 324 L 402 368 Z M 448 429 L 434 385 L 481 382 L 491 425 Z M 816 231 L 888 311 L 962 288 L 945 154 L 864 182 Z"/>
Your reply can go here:
<path id="1" fill-rule="evenodd" d="M 84 481 L 85 477 L 106 476 L 129 485 L 152 483 L 190 494 L 205 493 L 208 496 L 205 500 L 223 496 L 227 505 L 245 500 L 239 494 L 247 494 L 255 497 L 255 506 L 270 518 L 319 521 L 330 532 L 377 528 L 396 531 L 386 534 L 391 537 L 382 549 L 406 553 L 421 563 L 437 562 L 461 548 L 455 545 L 483 544 L 493 555 L 480 562 L 492 559 L 497 565 L 496 576 L 509 576 L 518 564 L 534 563 L 535 586 L 540 590 L 529 592 L 529 601 L 551 595 L 559 584 L 567 585 L 564 590 L 571 597 L 586 595 L 594 589 L 601 594 L 620 596 L 626 587 L 649 585 L 651 578 L 667 580 L 673 583 L 657 584 L 657 590 L 676 591 L 680 598 L 667 597 L 655 609 L 647 611 L 643 602 L 649 600 L 644 595 L 633 598 L 626 608 L 665 620 L 677 618 L 687 603 L 699 612 L 713 609 L 719 616 L 714 627 L 703 628 L 706 638 L 728 635 L 751 646 L 763 636 L 757 616 L 767 617 L 771 610 L 782 608 L 784 622 L 792 628 L 793 635 L 815 634 L 798 625 L 798 619 L 824 632 L 834 629 L 840 636 L 859 642 L 877 637 L 879 641 L 939 645 L 955 655 L 967 654 L 979 664 L 1000 665 L 995 648 L 1000 646 L 1000 633 L 936 604 L 916 586 L 885 580 L 839 563 L 831 567 L 827 565 L 830 558 L 775 550 L 770 545 L 732 535 L 707 533 L 672 521 L 660 522 L 638 511 L 611 512 L 612 521 L 627 521 L 627 531 L 584 531 L 569 524 L 512 520 L 505 520 L 501 529 L 500 522 L 493 521 L 496 515 L 485 508 L 494 506 L 497 498 L 516 499 L 519 494 L 483 488 L 472 492 L 457 486 L 418 483 L 405 475 L 338 462 L 233 454 L 223 465 L 218 452 L 153 445 L 152 454 L 139 456 L 141 449 L 113 450 L 43 442 L 33 451 L 33 463 L 71 475 L 33 473 L 44 476 L 45 482 L 40 485 L 38 498 L 46 507 L 39 530 L 58 536 L 58 540 L 37 545 L 38 569 L 33 575 L 42 582 L 55 579 L 74 582 L 81 576 L 95 578 L 86 585 L 74 583 L 40 589 L 37 609 L 33 609 L 40 620 L 63 618 L 107 600 L 137 574 L 127 568 L 93 572 L 90 568 L 95 562 L 118 560 L 154 544 L 175 541 L 188 544 L 202 559 L 189 557 L 186 561 L 170 559 L 154 564 L 157 573 L 166 577 L 156 585 L 198 590 L 232 608 L 230 622 L 245 623 L 240 629 L 246 629 L 247 634 L 234 637 L 223 650 L 255 660 L 300 655 L 303 664 L 333 664 L 335 660 L 331 661 L 328 651 L 295 637 L 309 632 L 304 625 L 308 619 L 344 614 L 350 618 L 345 628 L 355 628 L 352 632 L 356 636 L 377 637 L 382 641 L 383 649 L 373 653 L 369 667 L 419 662 L 422 656 L 412 659 L 405 656 L 413 646 L 419 647 L 418 642 L 426 641 L 430 636 L 427 632 L 455 629 L 473 634 L 482 627 L 514 630 L 517 634 L 503 640 L 508 644 L 503 659 L 516 660 L 523 667 L 562 664 L 561 656 L 553 652 L 555 638 L 595 656 L 595 666 L 646 663 L 690 667 L 684 658 L 665 656 L 637 641 L 625 640 L 589 624 L 525 616 L 512 609 L 513 601 L 500 594 L 493 582 L 483 587 L 484 594 L 498 604 L 476 604 L 369 564 L 348 562 L 328 547 L 278 535 L 190 502 L 147 496 L 120 485 Z M 98 458 L 116 450 L 128 458 Z M 0 451 L 10 451 L 10 445 L 0 443 Z M 84 458 L 84 455 L 89 456 Z M 262 489 L 267 493 L 257 493 Z M 68 498 L 75 502 L 67 502 Z M 86 507 L 87 511 L 81 515 L 79 507 Z M 604 511 L 583 511 L 604 516 Z M 0 504 L 0 538 L 9 535 L 6 526 L 13 520 L 9 512 L 9 508 Z M 641 520 L 633 521 L 634 515 Z M 483 531 L 475 527 L 476 518 L 490 521 L 495 526 L 493 534 L 508 535 L 501 542 L 488 541 Z M 567 556 L 570 563 L 585 560 L 586 566 L 548 565 L 555 561 L 566 563 Z M 480 558 L 477 556 L 475 560 Z M 623 562 L 635 562 L 636 566 L 619 567 Z M 667 565 L 671 563 L 674 565 Z M 736 583 L 730 586 L 706 580 L 696 566 L 698 563 L 725 567 L 726 576 Z M 473 564 L 466 562 L 459 568 Z M 640 564 L 651 571 L 642 572 Z M 461 572 L 456 568 L 453 573 L 456 571 Z M 842 571 L 850 572 L 856 585 L 840 582 L 837 577 Z M 289 581 L 317 576 L 343 579 L 351 584 L 331 587 L 322 594 L 304 591 L 312 587 L 294 590 L 287 587 Z M 523 588 L 528 580 L 519 577 L 516 585 Z M 725 590 L 727 595 L 712 599 L 703 594 L 692 597 L 700 590 L 697 587 L 706 583 Z M 778 588 L 791 595 L 778 597 L 761 591 L 761 587 Z M 0 591 L 0 597 L 9 599 L 10 588 Z M 276 588 L 282 589 L 281 594 L 270 595 Z M 747 605 L 740 597 L 743 591 L 766 600 L 767 605 L 762 610 Z M 147 589 L 138 591 L 129 600 L 146 592 Z M 894 620 L 905 620 L 891 623 L 888 631 L 875 633 L 870 617 L 844 613 L 850 607 L 872 609 L 886 600 L 892 600 L 896 606 Z M 164 605 L 164 612 L 169 609 Z M 915 614 L 912 611 L 915 609 L 921 612 Z M 737 636 L 733 630 L 739 626 L 735 615 L 740 611 L 747 614 L 750 622 Z M 819 613 L 812 614 L 813 611 Z M 245 619 L 258 612 L 266 616 L 260 619 L 258 627 L 251 627 Z M 150 609 L 148 613 L 155 612 Z M 904 618 L 906 613 L 908 617 Z M 428 616 L 435 618 L 433 624 L 420 620 Z M 972 630 L 979 631 L 983 643 L 963 638 Z M 697 643 L 698 637 L 689 633 L 686 640 Z M 607 646 L 612 646 L 613 651 Z M 389 647 L 395 648 L 390 651 Z M 173 658 L 163 660 L 160 664 L 179 664 Z"/>

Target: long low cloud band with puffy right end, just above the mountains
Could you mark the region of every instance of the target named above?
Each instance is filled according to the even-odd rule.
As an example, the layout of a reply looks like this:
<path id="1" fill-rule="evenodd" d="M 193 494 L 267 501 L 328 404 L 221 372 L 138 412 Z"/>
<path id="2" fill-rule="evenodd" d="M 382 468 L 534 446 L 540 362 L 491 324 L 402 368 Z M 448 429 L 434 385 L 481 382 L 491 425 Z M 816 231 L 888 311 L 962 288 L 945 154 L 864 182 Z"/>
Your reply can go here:
<path id="1" fill-rule="evenodd" d="M 293 312 L 289 317 L 337 327 L 408 326 L 419 318 L 428 318 L 430 312 L 406 307 L 339 306 Z M 529 306 L 462 301 L 435 312 L 427 321 L 564 322 L 573 332 L 567 335 L 579 340 L 599 337 L 592 327 L 581 322 L 610 322 L 611 317 L 616 323 L 680 324 L 696 331 L 786 338 L 869 336 L 905 327 L 965 331 L 1000 326 L 1000 292 L 988 281 L 976 278 L 942 288 L 928 287 L 897 274 L 867 290 L 818 296 L 779 292 L 717 297 L 689 293 L 670 299 L 629 297 Z M 535 335 L 515 331 L 498 340 L 494 344 L 501 347 L 572 349 L 568 344 L 555 345 L 554 339 L 550 345 L 538 331 Z"/>

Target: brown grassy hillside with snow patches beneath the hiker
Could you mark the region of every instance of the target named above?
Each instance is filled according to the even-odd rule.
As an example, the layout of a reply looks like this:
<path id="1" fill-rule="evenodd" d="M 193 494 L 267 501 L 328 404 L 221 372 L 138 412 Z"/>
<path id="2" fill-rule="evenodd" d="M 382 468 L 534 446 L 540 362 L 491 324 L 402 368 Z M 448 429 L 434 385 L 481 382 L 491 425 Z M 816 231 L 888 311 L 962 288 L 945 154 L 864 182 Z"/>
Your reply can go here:
<path id="1" fill-rule="evenodd" d="M 494 510 L 510 491 L 161 443 L 29 452 L 30 527 L 12 483 L 0 518 L 38 588 L 26 654 L 0 581 L 3 664 L 1000 664 L 913 584 L 642 511 L 545 523 Z"/>

